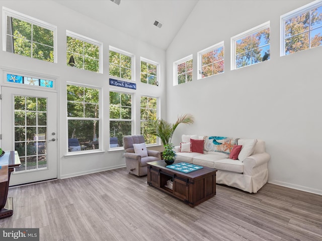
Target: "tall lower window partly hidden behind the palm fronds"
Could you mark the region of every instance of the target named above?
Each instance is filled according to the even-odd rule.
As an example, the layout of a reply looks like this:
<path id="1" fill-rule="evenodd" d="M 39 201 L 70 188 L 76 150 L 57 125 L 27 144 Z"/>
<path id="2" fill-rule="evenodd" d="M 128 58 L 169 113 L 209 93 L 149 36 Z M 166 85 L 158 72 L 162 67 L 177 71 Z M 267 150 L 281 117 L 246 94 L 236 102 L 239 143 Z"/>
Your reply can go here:
<path id="1" fill-rule="evenodd" d="M 156 136 L 146 133 L 147 121 L 154 121 L 157 115 L 157 98 L 141 96 L 141 135 L 146 144 L 156 144 Z"/>

